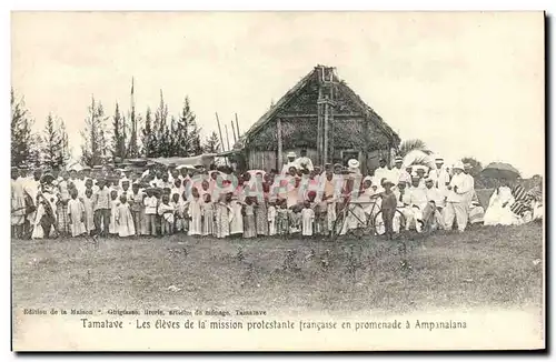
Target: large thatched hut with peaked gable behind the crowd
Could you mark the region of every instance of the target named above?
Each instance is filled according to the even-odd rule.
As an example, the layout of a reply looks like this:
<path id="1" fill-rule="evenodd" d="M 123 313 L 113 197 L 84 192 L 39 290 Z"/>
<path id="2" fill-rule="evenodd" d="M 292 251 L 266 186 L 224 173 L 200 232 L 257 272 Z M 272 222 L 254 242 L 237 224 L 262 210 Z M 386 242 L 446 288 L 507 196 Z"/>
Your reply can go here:
<path id="1" fill-rule="evenodd" d="M 341 81 L 335 68 L 317 66 L 241 137 L 236 145 L 250 169 L 279 169 L 285 154 L 307 154 L 315 164 L 357 158 L 365 171 L 390 159 L 400 139 Z"/>

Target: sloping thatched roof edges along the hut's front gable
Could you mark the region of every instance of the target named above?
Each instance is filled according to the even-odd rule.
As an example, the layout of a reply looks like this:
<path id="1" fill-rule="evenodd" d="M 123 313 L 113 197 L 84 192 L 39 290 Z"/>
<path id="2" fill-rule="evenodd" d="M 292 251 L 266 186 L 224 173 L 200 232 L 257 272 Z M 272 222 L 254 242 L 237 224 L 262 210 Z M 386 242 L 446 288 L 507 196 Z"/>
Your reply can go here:
<path id="1" fill-rule="evenodd" d="M 319 66 L 321 67 L 321 66 Z M 249 138 L 255 135 L 262 127 L 265 127 L 268 122 L 272 121 L 276 115 L 284 110 L 291 100 L 294 100 L 304 89 L 305 87 L 314 79 L 316 72 L 319 67 L 315 67 L 307 76 L 301 78 L 288 92 L 276 102 L 257 122 L 255 122 L 251 128 L 239 139 L 239 141 L 235 144 L 235 149 L 241 149 L 248 144 Z M 325 67 L 328 68 L 328 67 Z M 383 120 L 380 115 L 378 115 L 368 104 L 366 104 L 361 98 L 354 92 L 351 88 L 347 86 L 347 83 L 337 78 L 334 74 L 334 81 L 337 82 L 340 92 L 342 92 L 347 98 L 350 99 L 360 110 L 361 114 L 369 121 L 376 124 L 376 127 L 383 131 L 383 133 L 388 138 L 388 140 L 395 144 L 396 147 L 400 142 L 399 135 Z"/>

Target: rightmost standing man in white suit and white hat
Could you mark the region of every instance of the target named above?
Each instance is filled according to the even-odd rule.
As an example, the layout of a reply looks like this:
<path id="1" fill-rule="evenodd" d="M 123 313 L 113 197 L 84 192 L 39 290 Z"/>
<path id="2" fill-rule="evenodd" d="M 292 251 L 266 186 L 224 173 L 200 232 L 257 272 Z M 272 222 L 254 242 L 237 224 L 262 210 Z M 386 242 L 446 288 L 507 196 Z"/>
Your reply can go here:
<path id="1" fill-rule="evenodd" d="M 445 229 L 451 230 L 454 219 L 457 221 L 459 232 L 464 232 L 467 227 L 467 193 L 470 191 L 470 184 L 464 173 L 464 163 L 457 161 L 454 164 L 454 175 L 447 187 L 446 208 L 445 208 Z"/>

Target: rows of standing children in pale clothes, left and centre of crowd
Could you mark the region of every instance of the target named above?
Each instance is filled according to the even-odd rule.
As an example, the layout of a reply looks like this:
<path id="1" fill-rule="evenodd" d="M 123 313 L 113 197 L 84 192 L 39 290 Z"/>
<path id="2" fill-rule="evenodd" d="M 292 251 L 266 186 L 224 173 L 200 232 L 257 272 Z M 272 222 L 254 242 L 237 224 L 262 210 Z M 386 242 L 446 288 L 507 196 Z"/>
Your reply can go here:
<path id="1" fill-rule="evenodd" d="M 310 237 L 330 231 L 328 202 L 316 200 L 315 191 L 299 197 L 300 178 L 295 170 L 282 175 L 286 187 L 276 195 L 269 192 L 275 172 L 236 175 L 226 170 L 151 169 L 139 175 L 123 171 L 119 177 L 115 172 L 91 175 L 86 169 L 60 172 L 58 178 L 50 172 L 34 174 L 34 179 L 17 178 L 37 200 L 39 210 L 31 215 L 32 238 L 175 233 Z M 43 222 L 47 210 L 52 217 L 50 224 Z"/>

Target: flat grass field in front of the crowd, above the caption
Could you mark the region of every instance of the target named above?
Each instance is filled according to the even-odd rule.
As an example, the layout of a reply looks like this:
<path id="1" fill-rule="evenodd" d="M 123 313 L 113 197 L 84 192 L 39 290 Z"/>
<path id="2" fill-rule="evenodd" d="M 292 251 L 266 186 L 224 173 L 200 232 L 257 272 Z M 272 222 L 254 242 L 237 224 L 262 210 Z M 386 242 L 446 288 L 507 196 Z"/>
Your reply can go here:
<path id="1" fill-rule="evenodd" d="M 540 308 L 540 260 L 539 224 L 409 234 L 393 242 L 12 240 L 12 296 L 13 308 Z"/>

